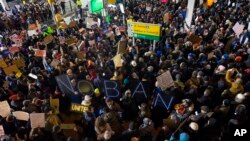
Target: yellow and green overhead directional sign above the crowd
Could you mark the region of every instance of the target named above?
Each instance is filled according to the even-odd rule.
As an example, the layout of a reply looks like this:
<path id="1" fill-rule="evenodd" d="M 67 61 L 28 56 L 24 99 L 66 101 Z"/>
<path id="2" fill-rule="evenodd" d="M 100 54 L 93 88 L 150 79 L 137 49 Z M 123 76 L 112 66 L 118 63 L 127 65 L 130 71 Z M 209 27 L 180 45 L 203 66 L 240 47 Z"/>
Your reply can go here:
<path id="1" fill-rule="evenodd" d="M 161 25 L 139 22 L 128 22 L 128 35 L 130 37 L 160 40 Z"/>

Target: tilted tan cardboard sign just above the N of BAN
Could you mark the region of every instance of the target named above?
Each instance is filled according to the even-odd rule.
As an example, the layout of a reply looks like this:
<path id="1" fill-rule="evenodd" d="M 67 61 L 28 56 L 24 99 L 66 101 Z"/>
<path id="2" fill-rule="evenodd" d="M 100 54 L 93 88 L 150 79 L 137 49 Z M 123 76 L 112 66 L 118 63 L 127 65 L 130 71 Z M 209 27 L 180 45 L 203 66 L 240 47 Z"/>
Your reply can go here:
<path id="1" fill-rule="evenodd" d="M 164 72 L 160 76 L 156 77 L 160 88 L 164 91 L 169 87 L 174 86 L 174 80 L 169 71 Z"/>

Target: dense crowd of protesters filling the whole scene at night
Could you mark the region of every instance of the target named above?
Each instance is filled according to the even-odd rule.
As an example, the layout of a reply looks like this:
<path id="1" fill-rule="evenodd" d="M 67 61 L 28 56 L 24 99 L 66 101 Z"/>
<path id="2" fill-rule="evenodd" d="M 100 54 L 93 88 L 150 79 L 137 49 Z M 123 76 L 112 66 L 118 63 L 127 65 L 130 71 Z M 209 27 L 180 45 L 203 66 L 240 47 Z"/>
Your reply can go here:
<path id="1" fill-rule="evenodd" d="M 86 28 L 84 18 L 77 26 L 54 30 L 53 41 L 43 44 L 44 34 L 25 35 L 20 52 L 6 54 L 13 42 L 12 34 L 20 34 L 30 23 L 51 19 L 48 5 L 20 6 L 13 8 L 13 15 L 0 14 L 1 58 L 23 58 L 26 67 L 20 68 L 22 76 L 6 75 L 0 69 L 0 100 L 7 100 L 12 111 L 46 113 L 45 128 L 31 129 L 29 122 L 19 121 L 13 115 L 0 117 L 5 135 L 1 141 L 34 140 L 64 141 L 67 137 L 60 124 L 61 114 L 71 115 L 71 102 L 89 106 L 74 124 L 75 135 L 84 141 L 211 141 L 230 140 L 235 129 L 249 127 L 250 92 L 250 3 L 248 0 L 218 1 L 212 6 L 196 0 L 193 21 L 189 30 L 184 28 L 187 0 L 161 3 L 155 0 L 126 0 L 125 17 L 135 22 L 161 24 L 161 37 L 155 48 L 152 41 L 128 37 L 123 14 L 119 8 L 109 8 L 110 23 L 101 19 L 100 27 Z M 150 8 L 148 8 L 150 7 Z M 245 25 L 239 37 L 232 27 L 239 22 Z M 104 33 L 108 26 L 108 32 Z M 84 31 L 79 29 L 84 28 Z M 188 41 L 198 35 L 201 42 Z M 61 38 L 74 37 L 77 43 L 67 45 Z M 94 45 L 89 41 L 95 40 Z M 117 53 L 117 43 L 127 41 L 122 55 L 122 67 L 115 67 L 112 58 Z M 79 47 L 79 44 L 82 43 Z M 56 66 L 44 66 L 44 60 L 36 57 L 34 49 L 46 49 L 46 62 L 60 61 Z M 154 50 L 153 50 L 154 49 Z M 78 51 L 86 52 L 86 59 L 77 58 Z M 212 53 L 212 56 L 210 54 Z M 174 97 L 170 109 L 154 107 L 152 101 L 160 91 L 156 77 L 170 71 L 174 86 L 163 91 Z M 28 76 L 36 75 L 36 80 Z M 74 88 L 80 80 L 88 80 L 94 86 L 93 94 L 74 95 L 63 93 L 55 77 L 66 74 Z M 99 88 L 100 79 L 120 82 L 122 96 L 113 100 Z M 138 103 L 131 94 L 133 80 L 147 81 L 149 97 Z M 8 81 L 8 86 L 3 84 Z M 49 105 L 49 98 L 59 98 L 60 109 L 56 113 Z M 249 134 L 249 133 L 248 133 Z"/>

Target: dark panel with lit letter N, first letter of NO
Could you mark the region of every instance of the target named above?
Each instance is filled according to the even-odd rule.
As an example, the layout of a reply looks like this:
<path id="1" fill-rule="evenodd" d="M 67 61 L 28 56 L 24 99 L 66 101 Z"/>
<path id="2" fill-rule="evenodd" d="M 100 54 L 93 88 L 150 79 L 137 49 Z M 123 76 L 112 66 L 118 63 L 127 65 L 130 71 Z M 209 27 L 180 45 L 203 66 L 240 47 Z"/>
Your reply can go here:
<path id="1" fill-rule="evenodd" d="M 67 75 L 56 76 L 56 82 L 60 90 L 62 91 L 62 93 L 67 94 L 67 95 L 74 94 L 75 92 L 74 88 Z"/>

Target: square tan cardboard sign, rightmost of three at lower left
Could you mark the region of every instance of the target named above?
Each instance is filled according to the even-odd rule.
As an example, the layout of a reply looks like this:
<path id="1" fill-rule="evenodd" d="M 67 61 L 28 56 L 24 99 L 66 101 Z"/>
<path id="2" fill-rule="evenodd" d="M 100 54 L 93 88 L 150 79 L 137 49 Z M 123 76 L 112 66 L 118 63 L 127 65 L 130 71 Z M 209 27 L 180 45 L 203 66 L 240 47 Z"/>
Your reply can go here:
<path id="1" fill-rule="evenodd" d="M 45 127 L 45 114 L 44 113 L 31 113 L 30 114 L 31 128 Z"/>

